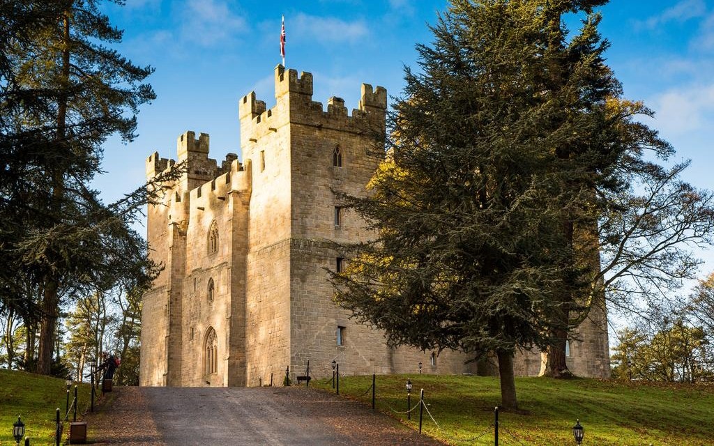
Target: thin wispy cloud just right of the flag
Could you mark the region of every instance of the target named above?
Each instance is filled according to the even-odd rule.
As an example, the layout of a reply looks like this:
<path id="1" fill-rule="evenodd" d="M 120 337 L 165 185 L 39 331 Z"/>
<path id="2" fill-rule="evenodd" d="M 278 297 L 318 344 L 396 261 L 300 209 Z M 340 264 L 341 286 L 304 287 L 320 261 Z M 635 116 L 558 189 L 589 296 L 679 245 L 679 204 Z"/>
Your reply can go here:
<path id="1" fill-rule="evenodd" d="M 308 16 L 298 14 L 292 20 L 292 29 L 297 36 L 308 37 L 319 43 L 356 42 L 365 39 L 369 30 L 365 21 L 344 21 L 334 17 Z M 290 41 L 291 30 L 286 24 L 287 38 Z"/>

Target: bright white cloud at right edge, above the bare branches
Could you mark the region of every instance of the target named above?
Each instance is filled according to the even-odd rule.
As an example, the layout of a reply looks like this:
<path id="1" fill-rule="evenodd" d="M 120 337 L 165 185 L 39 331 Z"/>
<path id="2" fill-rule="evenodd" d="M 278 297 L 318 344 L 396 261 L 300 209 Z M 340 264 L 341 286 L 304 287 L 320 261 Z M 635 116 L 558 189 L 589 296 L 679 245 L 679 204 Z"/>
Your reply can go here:
<path id="1" fill-rule="evenodd" d="M 673 88 L 648 103 L 657 113 L 653 127 L 665 135 L 714 128 L 714 83 Z"/>

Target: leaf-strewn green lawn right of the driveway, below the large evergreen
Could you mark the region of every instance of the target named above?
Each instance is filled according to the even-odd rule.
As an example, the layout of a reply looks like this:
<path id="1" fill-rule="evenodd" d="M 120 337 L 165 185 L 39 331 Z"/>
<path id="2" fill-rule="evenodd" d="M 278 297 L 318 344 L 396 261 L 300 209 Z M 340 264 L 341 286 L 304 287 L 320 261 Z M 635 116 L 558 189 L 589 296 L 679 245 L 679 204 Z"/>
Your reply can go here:
<path id="1" fill-rule="evenodd" d="M 418 429 L 418 408 L 406 415 L 406 380 L 412 406 L 419 391 L 423 432 L 451 445 L 493 445 L 493 408 L 501 400 L 495 377 L 387 375 L 376 377 L 376 409 Z M 343 377 L 340 394 L 371 405 L 371 376 Z M 332 392 L 330 380 L 311 386 Z M 518 404 L 527 415 L 501 411 L 499 445 L 575 445 L 580 418 L 583 445 L 713 445 L 714 386 L 623 384 L 593 379 L 517 377 Z M 477 438 L 478 437 L 478 438 Z"/>

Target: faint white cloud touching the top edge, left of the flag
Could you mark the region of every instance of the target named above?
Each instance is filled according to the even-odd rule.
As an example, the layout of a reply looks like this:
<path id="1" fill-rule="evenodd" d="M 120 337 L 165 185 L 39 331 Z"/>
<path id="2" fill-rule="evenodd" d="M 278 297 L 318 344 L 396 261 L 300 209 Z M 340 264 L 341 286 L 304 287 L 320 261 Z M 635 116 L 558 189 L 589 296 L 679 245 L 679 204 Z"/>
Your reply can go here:
<path id="1" fill-rule="evenodd" d="M 183 38 L 211 46 L 246 31 L 246 20 L 221 0 L 187 0 L 183 17 Z"/>

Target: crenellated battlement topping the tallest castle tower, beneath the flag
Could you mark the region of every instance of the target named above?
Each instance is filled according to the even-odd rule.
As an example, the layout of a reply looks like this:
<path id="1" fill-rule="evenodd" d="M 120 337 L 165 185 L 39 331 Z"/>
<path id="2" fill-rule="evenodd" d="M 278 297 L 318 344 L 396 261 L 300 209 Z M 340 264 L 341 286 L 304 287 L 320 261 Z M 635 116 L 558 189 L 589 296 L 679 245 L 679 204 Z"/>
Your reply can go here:
<path id="1" fill-rule="evenodd" d="M 354 108 L 351 115 L 343 98 L 329 98 L 325 110 L 323 103 L 312 100 L 312 94 L 312 74 L 302 72 L 298 76 L 296 70 L 286 71 L 283 66 L 276 66 L 276 106 L 266 109 L 265 101 L 258 100 L 254 91 L 239 101 L 241 147 L 256 143 L 288 123 L 351 133 L 362 133 L 370 127 L 384 128 L 387 91 L 383 87 L 375 89 L 363 83 L 358 108 Z"/>

